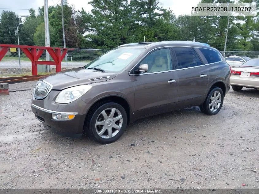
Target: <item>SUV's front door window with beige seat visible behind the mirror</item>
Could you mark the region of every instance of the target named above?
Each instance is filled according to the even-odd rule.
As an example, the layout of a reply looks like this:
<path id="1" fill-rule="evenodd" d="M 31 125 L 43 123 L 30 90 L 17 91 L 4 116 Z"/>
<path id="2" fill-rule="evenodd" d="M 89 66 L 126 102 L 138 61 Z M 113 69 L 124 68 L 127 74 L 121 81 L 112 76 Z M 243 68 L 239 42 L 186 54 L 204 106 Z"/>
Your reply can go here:
<path id="1" fill-rule="evenodd" d="M 170 49 L 164 48 L 156 50 L 147 55 L 147 57 L 140 64 L 148 65 L 148 70 L 146 73 L 172 70 Z"/>

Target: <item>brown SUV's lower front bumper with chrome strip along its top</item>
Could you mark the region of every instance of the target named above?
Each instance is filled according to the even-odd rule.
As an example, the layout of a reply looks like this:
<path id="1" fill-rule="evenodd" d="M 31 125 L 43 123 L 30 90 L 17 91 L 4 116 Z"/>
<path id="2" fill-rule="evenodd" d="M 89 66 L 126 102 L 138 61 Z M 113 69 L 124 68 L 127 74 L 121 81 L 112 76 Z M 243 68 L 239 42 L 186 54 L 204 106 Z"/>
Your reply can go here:
<path id="1" fill-rule="evenodd" d="M 72 138 L 80 138 L 82 136 L 85 114 L 80 115 L 78 112 L 52 111 L 34 104 L 31 104 L 31 107 L 35 117 L 49 130 L 59 135 Z M 52 119 L 52 114 L 75 114 L 75 117 L 72 120 L 58 121 Z"/>

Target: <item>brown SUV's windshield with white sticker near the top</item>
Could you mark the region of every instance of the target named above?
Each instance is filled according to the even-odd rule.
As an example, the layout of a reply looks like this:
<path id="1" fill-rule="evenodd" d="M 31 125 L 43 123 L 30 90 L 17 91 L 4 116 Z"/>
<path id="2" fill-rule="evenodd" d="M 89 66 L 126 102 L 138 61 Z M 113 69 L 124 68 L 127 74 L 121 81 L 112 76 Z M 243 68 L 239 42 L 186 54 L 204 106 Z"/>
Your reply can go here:
<path id="1" fill-rule="evenodd" d="M 84 68 L 99 68 L 116 73 L 139 56 L 145 48 L 115 48 L 87 64 Z"/>

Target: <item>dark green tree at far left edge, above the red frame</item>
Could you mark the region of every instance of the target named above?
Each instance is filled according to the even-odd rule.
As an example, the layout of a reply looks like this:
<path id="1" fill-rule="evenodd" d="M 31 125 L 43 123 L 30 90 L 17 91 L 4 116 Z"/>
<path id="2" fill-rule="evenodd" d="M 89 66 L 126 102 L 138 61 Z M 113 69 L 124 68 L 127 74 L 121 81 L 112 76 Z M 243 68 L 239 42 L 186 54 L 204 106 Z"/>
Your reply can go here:
<path id="1" fill-rule="evenodd" d="M 21 25 L 21 18 L 13 11 L 3 10 L 0 19 L 0 43 L 18 44 L 17 27 Z"/>

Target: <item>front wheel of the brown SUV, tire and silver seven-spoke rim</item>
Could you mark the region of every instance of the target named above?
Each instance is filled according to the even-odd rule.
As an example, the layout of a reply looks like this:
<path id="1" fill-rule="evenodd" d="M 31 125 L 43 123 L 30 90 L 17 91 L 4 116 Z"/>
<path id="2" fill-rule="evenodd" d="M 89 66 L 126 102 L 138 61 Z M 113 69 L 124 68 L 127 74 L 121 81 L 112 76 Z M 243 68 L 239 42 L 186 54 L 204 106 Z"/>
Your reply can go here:
<path id="1" fill-rule="evenodd" d="M 111 115 L 112 110 L 114 111 L 113 116 Z M 120 138 L 127 126 L 127 121 L 127 113 L 120 104 L 106 101 L 93 107 L 88 120 L 86 120 L 85 128 L 91 139 L 107 144 Z M 97 122 L 100 125 L 96 126 Z"/>

